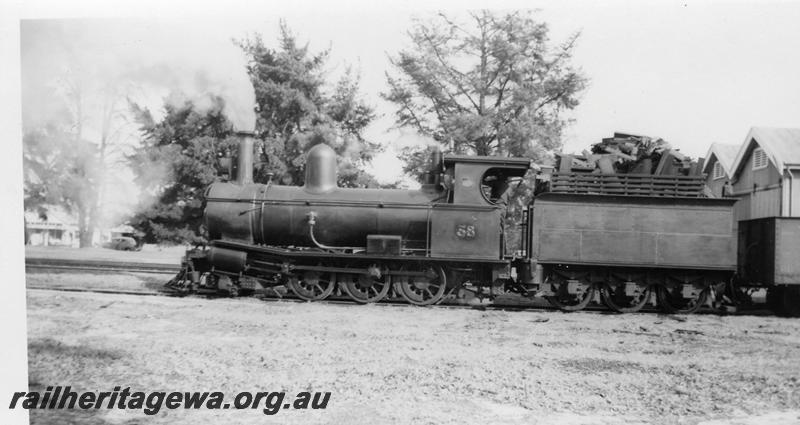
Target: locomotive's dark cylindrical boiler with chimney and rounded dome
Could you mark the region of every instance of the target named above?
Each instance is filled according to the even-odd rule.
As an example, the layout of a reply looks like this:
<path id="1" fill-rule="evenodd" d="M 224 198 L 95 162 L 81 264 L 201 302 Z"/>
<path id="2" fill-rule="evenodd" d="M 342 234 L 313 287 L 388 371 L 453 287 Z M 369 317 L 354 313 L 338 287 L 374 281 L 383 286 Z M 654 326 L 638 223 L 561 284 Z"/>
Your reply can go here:
<path id="1" fill-rule="evenodd" d="M 252 151 L 250 143 L 247 136 L 243 152 Z M 437 156 L 432 164 L 440 160 Z M 357 251 L 366 248 L 368 236 L 393 235 L 405 250 L 423 249 L 425 206 L 445 196 L 438 181 L 419 190 L 340 188 L 336 154 L 324 144 L 308 152 L 301 187 L 252 183 L 250 163 L 242 155 L 237 181 L 209 188 L 205 219 L 210 239 Z M 394 248 L 399 254 L 400 244 Z"/>

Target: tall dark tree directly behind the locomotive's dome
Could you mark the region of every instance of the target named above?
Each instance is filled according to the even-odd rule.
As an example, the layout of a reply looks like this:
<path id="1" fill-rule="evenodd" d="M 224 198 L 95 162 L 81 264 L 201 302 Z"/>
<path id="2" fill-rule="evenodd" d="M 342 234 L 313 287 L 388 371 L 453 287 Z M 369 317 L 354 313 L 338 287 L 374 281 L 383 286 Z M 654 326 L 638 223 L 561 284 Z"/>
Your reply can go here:
<path id="1" fill-rule="evenodd" d="M 312 53 L 308 44 L 299 45 L 284 22 L 278 41 L 277 49 L 267 47 L 257 35 L 239 42 L 256 93 L 256 131 L 269 158 L 257 178 L 272 173 L 284 184 L 301 184 L 305 152 L 325 143 L 339 156 L 339 185 L 374 186 L 375 180 L 362 166 L 378 149 L 363 137 L 375 115 L 360 99 L 358 76 L 348 68 L 333 87 L 327 87 L 328 50 Z"/>

